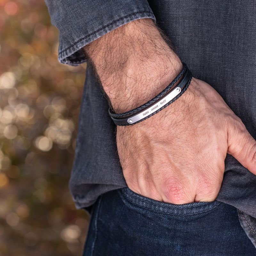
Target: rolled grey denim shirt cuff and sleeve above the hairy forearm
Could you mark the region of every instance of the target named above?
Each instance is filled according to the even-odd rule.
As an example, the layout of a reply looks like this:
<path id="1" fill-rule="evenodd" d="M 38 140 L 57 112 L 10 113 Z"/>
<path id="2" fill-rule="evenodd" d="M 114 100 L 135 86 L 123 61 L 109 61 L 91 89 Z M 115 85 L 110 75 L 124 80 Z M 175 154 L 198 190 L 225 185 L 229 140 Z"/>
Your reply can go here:
<path id="1" fill-rule="evenodd" d="M 45 0 L 60 33 L 59 61 L 78 66 L 81 48 L 128 22 L 155 16 L 146 0 Z"/>

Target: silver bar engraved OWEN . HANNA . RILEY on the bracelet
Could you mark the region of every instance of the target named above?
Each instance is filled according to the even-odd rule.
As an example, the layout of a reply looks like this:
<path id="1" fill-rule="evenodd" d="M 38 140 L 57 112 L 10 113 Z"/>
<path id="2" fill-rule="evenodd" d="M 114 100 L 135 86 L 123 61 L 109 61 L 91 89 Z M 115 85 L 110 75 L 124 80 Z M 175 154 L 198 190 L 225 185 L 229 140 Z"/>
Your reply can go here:
<path id="1" fill-rule="evenodd" d="M 164 96 L 163 99 L 157 101 L 154 105 L 152 105 L 149 108 L 146 108 L 139 114 L 132 116 L 131 118 L 128 118 L 127 122 L 129 124 L 133 124 L 142 118 L 149 116 L 150 114 L 154 113 L 159 108 L 162 108 L 165 104 L 170 102 L 174 97 L 176 97 L 180 93 L 181 89 L 180 87 L 175 87 L 171 92 L 169 92 L 166 96 Z"/>

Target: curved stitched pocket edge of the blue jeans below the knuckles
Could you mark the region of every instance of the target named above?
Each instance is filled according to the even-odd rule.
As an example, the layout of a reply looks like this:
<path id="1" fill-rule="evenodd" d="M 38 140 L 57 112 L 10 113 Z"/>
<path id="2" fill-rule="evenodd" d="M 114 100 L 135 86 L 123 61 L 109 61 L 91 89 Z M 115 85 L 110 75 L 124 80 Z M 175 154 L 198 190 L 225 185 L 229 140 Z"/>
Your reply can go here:
<path id="1" fill-rule="evenodd" d="M 217 207 L 221 202 L 197 202 L 189 204 L 170 204 L 154 199 L 141 196 L 133 192 L 129 188 L 122 188 L 119 191 L 124 203 L 139 207 L 141 209 L 150 210 L 153 212 L 165 213 L 170 215 L 182 216 L 182 215 L 194 215 L 203 212 L 208 212 Z"/>

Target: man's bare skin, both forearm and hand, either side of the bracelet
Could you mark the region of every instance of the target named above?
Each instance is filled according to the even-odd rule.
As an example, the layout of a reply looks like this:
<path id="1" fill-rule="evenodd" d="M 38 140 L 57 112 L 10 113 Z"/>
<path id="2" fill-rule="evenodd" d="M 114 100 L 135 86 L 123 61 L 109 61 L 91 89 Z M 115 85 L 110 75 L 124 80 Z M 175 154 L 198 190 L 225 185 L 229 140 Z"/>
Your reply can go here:
<path id="1" fill-rule="evenodd" d="M 84 51 L 116 113 L 152 99 L 182 69 L 149 19 L 117 28 Z M 256 141 L 221 96 L 196 78 L 156 115 L 117 126 L 116 142 L 128 187 L 166 203 L 214 201 L 227 153 L 256 174 Z"/>

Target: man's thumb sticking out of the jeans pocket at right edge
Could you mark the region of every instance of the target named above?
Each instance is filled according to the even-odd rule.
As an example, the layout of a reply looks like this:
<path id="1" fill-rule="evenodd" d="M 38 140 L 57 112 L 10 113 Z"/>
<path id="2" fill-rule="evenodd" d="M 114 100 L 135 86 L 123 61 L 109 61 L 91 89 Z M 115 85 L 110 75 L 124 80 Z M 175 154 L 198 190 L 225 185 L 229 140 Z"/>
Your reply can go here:
<path id="1" fill-rule="evenodd" d="M 245 168 L 256 175 L 256 141 L 242 121 L 232 125 L 228 132 L 228 154 L 234 156 Z"/>

